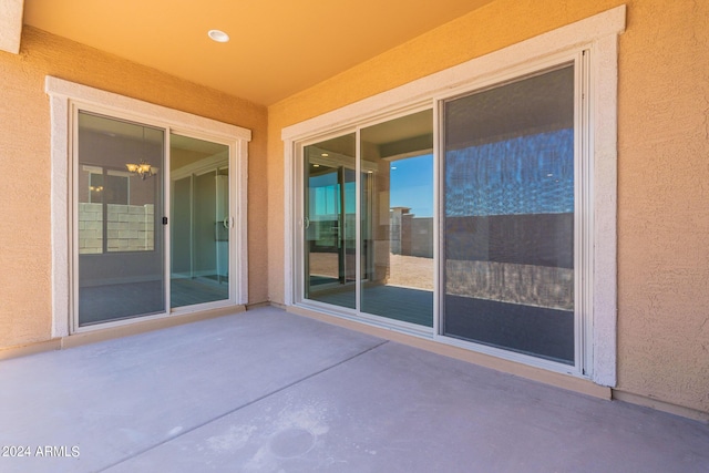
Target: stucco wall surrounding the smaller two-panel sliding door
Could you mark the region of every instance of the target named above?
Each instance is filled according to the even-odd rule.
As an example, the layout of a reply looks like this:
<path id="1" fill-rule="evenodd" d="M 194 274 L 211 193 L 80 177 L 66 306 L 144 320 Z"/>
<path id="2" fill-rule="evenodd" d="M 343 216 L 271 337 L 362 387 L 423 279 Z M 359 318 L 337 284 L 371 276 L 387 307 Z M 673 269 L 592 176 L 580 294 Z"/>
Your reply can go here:
<path id="1" fill-rule="evenodd" d="M 249 302 L 267 299 L 264 106 L 24 28 L 0 51 L 0 349 L 51 337 L 50 111 L 44 76 L 249 128 Z"/>

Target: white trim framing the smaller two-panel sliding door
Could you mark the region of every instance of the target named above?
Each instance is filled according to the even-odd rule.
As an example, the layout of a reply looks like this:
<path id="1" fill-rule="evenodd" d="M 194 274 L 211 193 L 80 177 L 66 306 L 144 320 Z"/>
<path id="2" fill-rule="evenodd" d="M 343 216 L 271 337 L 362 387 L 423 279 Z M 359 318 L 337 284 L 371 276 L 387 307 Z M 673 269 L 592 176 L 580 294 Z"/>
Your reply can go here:
<path id="1" fill-rule="evenodd" d="M 202 134 L 233 142 L 236 153 L 236 304 L 248 301 L 247 166 L 250 130 L 114 94 L 48 75 L 44 91 L 51 115 L 51 247 L 52 338 L 71 332 L 71 130 L 72 106 L 81 102 L 117 115 L 131 115 L 145 123 L 161 123 L 178 133 Z M 169 312 L 168 312 L 169 315 Z M 140 319 L 136 319 L 140 320 Z"/>

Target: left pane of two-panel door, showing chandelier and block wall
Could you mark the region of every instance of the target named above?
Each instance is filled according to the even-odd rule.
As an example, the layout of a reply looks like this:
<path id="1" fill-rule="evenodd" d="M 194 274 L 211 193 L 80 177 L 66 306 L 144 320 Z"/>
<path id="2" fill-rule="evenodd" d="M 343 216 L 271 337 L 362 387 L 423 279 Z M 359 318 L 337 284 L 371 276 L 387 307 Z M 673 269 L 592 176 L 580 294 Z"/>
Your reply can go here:
<path id="1" fill-rule="evenodd" d="M 78 123 L 79 326 L 165 312 L 164 132 L 88 112 Z"/>

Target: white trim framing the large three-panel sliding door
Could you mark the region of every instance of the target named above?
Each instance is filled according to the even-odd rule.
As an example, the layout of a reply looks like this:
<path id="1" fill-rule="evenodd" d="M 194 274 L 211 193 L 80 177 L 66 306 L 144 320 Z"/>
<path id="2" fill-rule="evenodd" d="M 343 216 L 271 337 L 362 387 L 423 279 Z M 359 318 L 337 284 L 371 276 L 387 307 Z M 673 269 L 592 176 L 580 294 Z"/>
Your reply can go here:
<path id="1" fill-rule="evenodd" d="M 594 256 L 593 315 L 590 318 L 593 382 L 616 385 L 617 357 L 617 37 L 625 31 L 626 7 L 607 10 L 502 50 L 370 96 L 341 109 L 285 127 L 285 304 L 292 306 L 295 284 L 294 258 L 295 145 L 308 137 L 352 126 L 413 103 L 433 100 L 459 88 L 472 88 L 493 76 L 501 76 L 525 63 L 542 62 L 551 56 L 588 49 L 590 55 L 589 156 L 593 158 Z"/>

